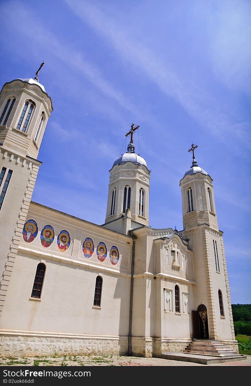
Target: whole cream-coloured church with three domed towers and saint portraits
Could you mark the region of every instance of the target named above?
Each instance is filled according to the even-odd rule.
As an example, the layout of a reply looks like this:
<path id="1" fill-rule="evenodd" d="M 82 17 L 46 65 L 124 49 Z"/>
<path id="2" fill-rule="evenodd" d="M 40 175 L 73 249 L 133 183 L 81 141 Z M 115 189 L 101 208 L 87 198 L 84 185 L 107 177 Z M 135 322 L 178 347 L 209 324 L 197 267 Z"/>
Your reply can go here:
<path id="1" fill-rule="evenodd" d="M 34 79 L 0 93 L 0 356 L 161 357 L 193 339 L 238 352 L 211 176 L 180 179 L 184 229 L 149 225 L 150 171 L 135 153 L 109 171 L 97 225 L 31 201 L 52 101 Z M 42 167 L 42 166 L 41 166 Z"/>

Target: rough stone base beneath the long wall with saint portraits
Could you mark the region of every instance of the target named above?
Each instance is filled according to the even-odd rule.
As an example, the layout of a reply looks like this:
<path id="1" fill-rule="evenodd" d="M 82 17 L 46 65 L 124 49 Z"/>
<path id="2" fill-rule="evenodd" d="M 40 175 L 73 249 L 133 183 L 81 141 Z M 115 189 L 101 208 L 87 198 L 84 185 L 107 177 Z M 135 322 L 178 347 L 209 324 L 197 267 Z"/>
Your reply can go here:
<path id="1" fill-rule="evenodd" d="M 0 357 L 128 355 L 128 337 L 39 332 L 0 334 Z"/>

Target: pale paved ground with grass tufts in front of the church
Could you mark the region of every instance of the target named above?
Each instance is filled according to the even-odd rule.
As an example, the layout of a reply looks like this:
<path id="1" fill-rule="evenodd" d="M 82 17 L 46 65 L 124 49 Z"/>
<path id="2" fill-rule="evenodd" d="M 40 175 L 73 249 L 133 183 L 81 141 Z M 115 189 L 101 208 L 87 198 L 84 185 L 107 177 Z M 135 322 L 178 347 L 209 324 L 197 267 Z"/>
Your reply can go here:
<path id="1" fill-rule="evenodd" d="M 170 361 L 160 358 L 126 356 L 46 356 L 28 358 L 0 358 L 0 366 L 251 366 L 251 356 L 236 362 L 204 365 Z"/>

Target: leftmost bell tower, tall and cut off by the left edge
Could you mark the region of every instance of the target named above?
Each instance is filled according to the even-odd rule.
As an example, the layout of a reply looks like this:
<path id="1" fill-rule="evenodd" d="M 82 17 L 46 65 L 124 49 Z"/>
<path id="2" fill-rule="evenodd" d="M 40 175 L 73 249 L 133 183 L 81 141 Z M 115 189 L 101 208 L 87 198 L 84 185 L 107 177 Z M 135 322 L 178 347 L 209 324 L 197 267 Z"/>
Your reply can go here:
<path id="1" fill-rule="evenodd" d="M 53 110 L 51 98 L 37 79 L 39 70 L 35 79 L 15 79 L 0 91 L 1 303 L 41 165 L 39 147 Z"/>

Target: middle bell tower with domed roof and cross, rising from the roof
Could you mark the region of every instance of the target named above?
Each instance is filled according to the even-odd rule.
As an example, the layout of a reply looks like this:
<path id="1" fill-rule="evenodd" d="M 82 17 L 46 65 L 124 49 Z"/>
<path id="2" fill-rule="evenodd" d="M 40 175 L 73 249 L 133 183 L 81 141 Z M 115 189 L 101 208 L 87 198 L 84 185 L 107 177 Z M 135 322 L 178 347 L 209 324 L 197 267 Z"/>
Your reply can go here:
<path id="1" fill-rule="evenodd" d="M 110 170 L 105 227 L 127 233 L 128 229 L 149 225 L 148 200 L 150 171 L 143 157 L 135 153 L 133 132 L 139 126 L 131 125 L 131 135 L 125 154 L 116 158 Z M 119 220 L 126 223 L 118 227 Z M 121 221 L 120 221 L 121 223 Z"/>

